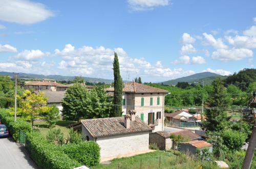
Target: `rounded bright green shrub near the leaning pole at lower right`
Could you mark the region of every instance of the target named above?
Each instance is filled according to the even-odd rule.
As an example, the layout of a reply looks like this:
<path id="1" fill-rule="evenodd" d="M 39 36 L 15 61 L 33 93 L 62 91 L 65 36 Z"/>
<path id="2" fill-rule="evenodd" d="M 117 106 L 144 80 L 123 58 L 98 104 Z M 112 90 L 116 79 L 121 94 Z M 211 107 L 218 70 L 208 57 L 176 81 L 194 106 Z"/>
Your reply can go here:
<path id="1" fill-rule="evenodd" d="M 245 142 L 246 135 L 236 130 L 224 130 L 221 132 L 223 144 L 231 151 L 240 150 Z"/>

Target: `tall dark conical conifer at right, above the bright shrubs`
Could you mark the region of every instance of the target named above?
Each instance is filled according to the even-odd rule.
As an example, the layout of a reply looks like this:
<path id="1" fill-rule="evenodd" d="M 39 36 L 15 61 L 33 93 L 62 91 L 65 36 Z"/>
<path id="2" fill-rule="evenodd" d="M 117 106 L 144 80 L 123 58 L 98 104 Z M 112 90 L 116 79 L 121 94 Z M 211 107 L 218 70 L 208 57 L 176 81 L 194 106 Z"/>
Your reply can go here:
<path id="1" fill-rule="evenodd" d="M 228 100 L 224 95 L 225 88 L 223 86 L 223 82 L 220 77 L 217 77 L 213 82 L 213 92 L 209 97 L 207 106 L 209 107 L 217 107 L 216 109 L 207 109 L 206 110 L 206 118 L 205 126 L 207 130 L 217 130 L 217 125 L 220 124 L 222 121 L 228 120 L 227 112 L 221 108 L 228 106 Z"/>

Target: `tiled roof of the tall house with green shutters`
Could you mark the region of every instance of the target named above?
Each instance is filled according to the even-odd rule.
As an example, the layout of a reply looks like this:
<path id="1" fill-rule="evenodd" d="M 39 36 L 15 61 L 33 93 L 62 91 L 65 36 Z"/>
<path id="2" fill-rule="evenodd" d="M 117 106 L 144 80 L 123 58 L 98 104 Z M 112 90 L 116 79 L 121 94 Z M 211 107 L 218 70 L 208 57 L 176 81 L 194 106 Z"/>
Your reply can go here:
<path id="1" fill-rule="evenodd" d="M 114 87 L 106 88 L 106 92 L 114 92 Z M 124 85 L 123 92 L 126 93 L 168 93 L 168 91 L 143 85 L 136 82 L 127 82 Z"/>

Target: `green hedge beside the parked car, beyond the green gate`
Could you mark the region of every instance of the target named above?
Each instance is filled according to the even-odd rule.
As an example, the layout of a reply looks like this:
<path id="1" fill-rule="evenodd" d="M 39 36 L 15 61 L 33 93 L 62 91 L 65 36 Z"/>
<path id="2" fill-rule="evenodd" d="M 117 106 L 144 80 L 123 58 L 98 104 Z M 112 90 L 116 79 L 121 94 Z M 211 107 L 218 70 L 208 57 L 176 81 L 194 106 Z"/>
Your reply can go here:
<path id="1" fill-rule="evenodd" d="M 20 130 L 25 133 L 32 131 L 32 127 L 30 126 L 30 124 L 25 122 L 24 120 L 17 119 L 14 123 L 14 118 L 9 115 L 7 109 L 0 109 L 0 118 L 2 119 L 2 123 L 8 127 L 10 134 L 15 141 L 18 140 Z"/>

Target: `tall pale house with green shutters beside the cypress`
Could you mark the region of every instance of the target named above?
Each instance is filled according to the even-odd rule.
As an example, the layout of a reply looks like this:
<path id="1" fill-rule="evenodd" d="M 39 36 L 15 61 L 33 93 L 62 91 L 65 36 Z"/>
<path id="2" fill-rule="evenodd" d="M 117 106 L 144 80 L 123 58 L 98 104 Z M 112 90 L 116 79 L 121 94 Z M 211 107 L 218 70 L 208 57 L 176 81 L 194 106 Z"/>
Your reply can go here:
<path id="1" fill-rule="evenodd" d="M 114 88 L 107 88 L 111 96 Z M 153 132 L 162 131 L 164 128 L 164 96 L 168 91 L 146 86 L 136 82 L 127 82 L 123 88 L 122 115 L 136 110 L 137 116 L 150 125 Z"/>

